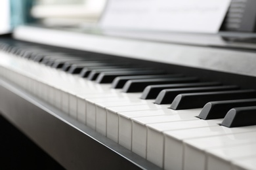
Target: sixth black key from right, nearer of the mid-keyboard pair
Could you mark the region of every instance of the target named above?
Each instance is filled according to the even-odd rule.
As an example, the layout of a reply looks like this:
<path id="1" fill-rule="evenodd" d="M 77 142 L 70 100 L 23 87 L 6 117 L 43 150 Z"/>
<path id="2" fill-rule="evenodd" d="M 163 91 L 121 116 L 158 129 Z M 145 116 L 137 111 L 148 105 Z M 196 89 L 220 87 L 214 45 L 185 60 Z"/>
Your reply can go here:
<path id="1" fill-rule="evenodd" d="M 129 80 L 123 86 L 123 92 L 142 92 L 146 86 L 154 84 L 177 84 L 182 82 L 198 82 L 196 77 L 182 77 L 182 78 L 152 78 L 143 80 Z"/>

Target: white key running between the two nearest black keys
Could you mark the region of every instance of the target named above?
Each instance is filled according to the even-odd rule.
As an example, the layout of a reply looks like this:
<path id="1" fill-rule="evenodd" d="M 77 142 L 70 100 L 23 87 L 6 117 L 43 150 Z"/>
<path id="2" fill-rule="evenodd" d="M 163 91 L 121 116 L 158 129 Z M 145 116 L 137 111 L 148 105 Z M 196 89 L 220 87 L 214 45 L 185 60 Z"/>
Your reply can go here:
<path id="1" fill-rule="evenodd" d="M 163 131 L 191 129 L 196 127 L 219 126 L 221 120 L 188 120 L 181 122 L 164 122 L 147 124 L 146 159 L 163 167 L 164 137 Z"/>

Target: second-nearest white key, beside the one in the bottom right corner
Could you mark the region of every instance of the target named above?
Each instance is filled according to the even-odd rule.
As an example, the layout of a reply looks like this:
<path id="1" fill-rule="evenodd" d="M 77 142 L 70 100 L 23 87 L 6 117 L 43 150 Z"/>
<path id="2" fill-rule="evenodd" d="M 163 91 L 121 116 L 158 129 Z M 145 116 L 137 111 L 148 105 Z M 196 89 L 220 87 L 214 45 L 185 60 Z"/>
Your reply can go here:
<path id="1" fill-rule="evenodd" d="M 241 158 L 255 156 L 256 144 L 245 144 L 242 146 L 226 146 L 207 150 L 207 169 L 231 169 L 232 161 Z"/>

